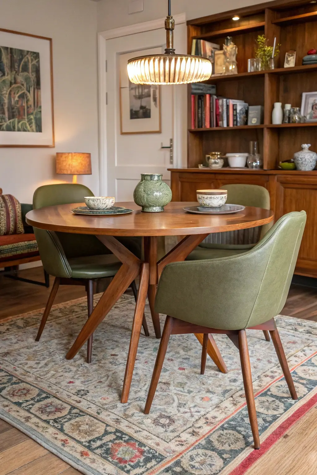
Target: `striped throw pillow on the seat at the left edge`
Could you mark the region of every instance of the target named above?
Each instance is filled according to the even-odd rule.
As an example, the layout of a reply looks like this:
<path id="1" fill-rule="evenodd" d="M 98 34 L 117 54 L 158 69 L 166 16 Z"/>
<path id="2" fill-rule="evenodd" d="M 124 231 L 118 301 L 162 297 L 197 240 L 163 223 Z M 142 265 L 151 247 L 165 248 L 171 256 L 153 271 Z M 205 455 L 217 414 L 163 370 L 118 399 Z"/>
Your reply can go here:
<path id="1" fill-rule="evenodd" d="M 0 189 L 0 236 L 23 234 L 21 205 L 12 195 L 3 195 Z"/>

